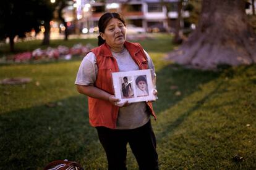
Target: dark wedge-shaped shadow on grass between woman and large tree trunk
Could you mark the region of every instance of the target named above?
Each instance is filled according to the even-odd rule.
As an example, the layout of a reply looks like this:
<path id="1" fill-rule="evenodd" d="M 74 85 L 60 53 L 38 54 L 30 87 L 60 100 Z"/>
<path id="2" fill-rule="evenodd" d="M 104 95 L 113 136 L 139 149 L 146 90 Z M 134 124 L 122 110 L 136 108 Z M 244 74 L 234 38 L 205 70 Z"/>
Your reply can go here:
<path id="1" fill-rule="evenodd" d="M 218 78 L 220 74 L 173 64 L 164 67 L 156 73 L 158 100 L 153 104 L 156 113 L 161 113 L 195 91 L 200 91 L 200 86 Z"/>

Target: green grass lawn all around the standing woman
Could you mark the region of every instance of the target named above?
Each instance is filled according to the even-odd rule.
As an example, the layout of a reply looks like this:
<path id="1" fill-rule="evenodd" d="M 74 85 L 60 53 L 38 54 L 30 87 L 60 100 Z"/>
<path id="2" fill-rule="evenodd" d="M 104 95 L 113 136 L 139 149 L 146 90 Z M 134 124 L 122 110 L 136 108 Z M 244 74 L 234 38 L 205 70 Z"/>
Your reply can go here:
<path id="1" fill-rule="evenodd" d="M 77 42 L 96 45 L 96 39 L 68 43 Z M 158 76 L 158 119 L 152 123 L 160 168 L 256 169 L 255 65 L 192 70 L 163 60 L 174 47 L 168 36 L 139 42 Z M 23 51 L 36 43 L 17 46 Z M 0 79 L 32 78 L 28 84 L 0 85 L 0 169 L 42 169 L 64 159 L 85 169 L 107 168 L 96 130 L 88 123 L 87 97 L 75 89 L 79 65 L 80 60 L 71 60 L 0 66 Z M 138 169 L 128 150 L 127 168 Z"/>

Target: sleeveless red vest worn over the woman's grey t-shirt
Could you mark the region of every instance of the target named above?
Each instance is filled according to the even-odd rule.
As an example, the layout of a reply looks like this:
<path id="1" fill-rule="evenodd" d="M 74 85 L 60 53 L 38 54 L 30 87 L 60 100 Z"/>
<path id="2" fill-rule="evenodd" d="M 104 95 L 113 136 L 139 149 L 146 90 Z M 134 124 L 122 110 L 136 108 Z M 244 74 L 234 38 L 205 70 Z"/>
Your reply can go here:
<path id="1" fill-rule="evenodd" d="M 142 47 L 138 43 L 124 42 L 132 59 L 139 66 L 140 70 L 147 69 L 147 56 Z M 96 56 L 96 63 L 98 66 L 98 76 L 96 78 L 95 86 L 109 94 L 114 95 L 113 83 L 111 73 L 118 72 L 118 65 L 114 59 L 109 46 L 105 43 L 100 47 L 92 49 Z M 156 119 L 153 106 L 150 102 L 147 103 L 147 108 Z M 92 126 L 105 126 L 110 129 L 116 129 L 116 121 L 119 107 L 112 105 L 108 100 L 95 99 L 88 97 L 89 119 Z"/>

